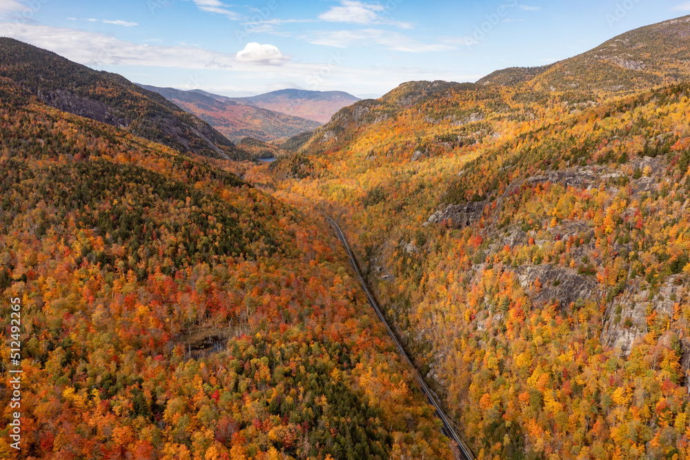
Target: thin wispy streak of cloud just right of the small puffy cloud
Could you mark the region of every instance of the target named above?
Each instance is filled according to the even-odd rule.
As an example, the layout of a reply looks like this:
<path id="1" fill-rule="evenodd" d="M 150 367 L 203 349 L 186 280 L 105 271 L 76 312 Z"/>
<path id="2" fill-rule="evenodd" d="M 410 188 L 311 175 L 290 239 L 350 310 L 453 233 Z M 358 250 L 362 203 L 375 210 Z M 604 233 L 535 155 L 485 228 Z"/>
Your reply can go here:
<path id="1" fill-rule="evenodd" d="M 317 32 L 315 35 L 316 38 L 310 39 L 310 43 L 335 48 L 347 48 L 348 45 L 377 44 L 388 50 L 404 52 L 433 52 L 455 49 L 455 46 L 451 44 L 425 44 L 398 32 L 388 32 L 382 29 L 334 30 Z"/>

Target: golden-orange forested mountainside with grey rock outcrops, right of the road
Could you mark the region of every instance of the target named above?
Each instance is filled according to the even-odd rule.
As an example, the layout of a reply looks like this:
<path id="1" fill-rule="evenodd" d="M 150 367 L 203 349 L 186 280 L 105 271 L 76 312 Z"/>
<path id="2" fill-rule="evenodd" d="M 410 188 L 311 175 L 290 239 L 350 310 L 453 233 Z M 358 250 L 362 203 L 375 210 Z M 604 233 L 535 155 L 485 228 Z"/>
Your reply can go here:
<path id="1" fill-rule="evenodd" d="M 629 36 L 682 50 L 686 27 Z M 245 178 L 336 216 L 479 456 L 688 458 L 690 74 L 676 64 L 600 98 L 582 90 L 609 88 L 586 61 L 578 90 L 535 83 L 550 68 L 410 82 Z"/>

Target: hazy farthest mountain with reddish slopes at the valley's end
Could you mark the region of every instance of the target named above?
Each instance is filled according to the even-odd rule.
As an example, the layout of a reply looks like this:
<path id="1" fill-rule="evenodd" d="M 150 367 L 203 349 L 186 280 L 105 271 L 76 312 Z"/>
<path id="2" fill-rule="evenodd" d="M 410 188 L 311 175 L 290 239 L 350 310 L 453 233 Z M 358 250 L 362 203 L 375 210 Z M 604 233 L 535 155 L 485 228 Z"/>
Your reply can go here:
<path id="1" fill-rule="evenodd" d="M 208 94 L 207 94 L 208 95 Z M 210 95 L 219 100 L 230 100 L 238 104 L 267 108 L 295 117 L 327 123 L 341 108 L 354 104 L 359 98 L 342 91 L 309 91 L 284 89 L 253 97 L 224 97 Z"/>

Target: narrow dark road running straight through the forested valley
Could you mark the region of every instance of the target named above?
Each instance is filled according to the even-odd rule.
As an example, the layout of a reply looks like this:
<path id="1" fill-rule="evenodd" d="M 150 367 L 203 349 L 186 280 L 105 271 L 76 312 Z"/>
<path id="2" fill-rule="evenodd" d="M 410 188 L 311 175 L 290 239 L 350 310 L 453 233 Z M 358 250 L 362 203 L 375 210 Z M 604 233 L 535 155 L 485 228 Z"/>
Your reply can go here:
<path id="1" fill-rule="evenodd" d="M 422 375 L 420 372 L 417 370 L 417 367 L 415 367 L 414 363 L 410 359 L 409 356 L 407 356 L 407 352 L 405 352 L 405 349 L 402 347 L 402 344 L 400 341 L 397 339 L 397 336 L 395 335 L 395 332 L 393 332 L 393 329 L 391 329 L 391 326 L 388 325 L 388 321 L 386 321 L 386 318 L 381 312 L 381 309 L 379 308 L 378 303 L 376 302 L 376 299 L 374 296 L 371 294 L 371 291 L 369 291 L 369 288 L 366 286 L 366 282 L 364 281 L 364 277 L 362 276 L 362 272 L 359 271 L 359 265 L 357 264 L 357 259 L 355 258 L 355 255 L 350 247 L 350 244 L 347 241 L 347 238 L 345 238 L 345 233 L 343 233 L 342 229 L 340 226 L 335 222 L 335 220 L 331 219 L 330 217 L 326 216 L 326 219 L 328 220 L 328 223 L 331 224 L 331 227 L 335 230 L 335 233 L 337 234 L 338 239 L 340 242 L 342 242 L 343 246 L 345 247 L 345 250 L 347 251 L 348 258 L 350 258 L 350 262 L 355 269 L 355 273 L 357 274 L 357 278 L 359 278 L 359 283 L 362 285 L 362 289 L 364 290 L 364 294 L 366 294 L 366 298 L 368 298 L 369 303 L 371 304 L 371 307 L 374 309 L 376 314 L 378 315 L 379 319 L 381 320 L 382 323 L 384 323 L 384 326 L 386 326 L 386 329 L 388 330 L 388 334 L 393 338 L 393 342 L 395 343 L 395 347 L 397 347 L 398 352 L 402 354 L 402 357 L 405 358 L 405 361 L 410 365 L 413 371 L 413 375 L 415 376 L 415 382 L 417 383 L 417 386 L 422 390 L 422 393 L 426 396 L 426 399 L 428 400 L 431 405 L 434 406 L 435 410 L 435 415 L 440 419 L 443 427 L 441 429 L 441 432 L 444 434 L 445 437 L 450 439 L 457 445 L 457 448 L 453 448 L 453 453 L 455 454 L 455 458 L 459 460 L 474 460 L 474 457 L 472 455 L 471 450 L 467 447 L 467 445 L 460 439 L 460 437 L 457 436 L 457 433 L 455 432 L 455 429 L 453 428 L 453 424 L 451 423 L 451 420 L 449 417 L 446 415 L 446 413 L 443 411 L 441 408 L 441 405 L 439 401 L 436 400 L 435 395 L 431 391 L 431 389 L 426 385 L 424 382 L 424 379 L 422 378 Z M 451 443 L 452 445 L 453 443 Z M 455 446 L 453 446 L 455 447 Z"/>

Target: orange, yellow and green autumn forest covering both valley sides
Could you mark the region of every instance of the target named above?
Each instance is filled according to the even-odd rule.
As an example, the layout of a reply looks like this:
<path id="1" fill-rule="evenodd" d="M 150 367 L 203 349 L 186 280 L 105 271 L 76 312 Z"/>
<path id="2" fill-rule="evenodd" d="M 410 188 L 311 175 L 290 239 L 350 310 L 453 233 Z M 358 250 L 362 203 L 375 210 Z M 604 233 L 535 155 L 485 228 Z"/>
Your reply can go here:
<path id="1" fill-rule="evenodd" d="M 0 458 L 464 458 L 327 216 L 471 457 L 689 458 L 688 34 L 237 144 L 0 39 Z"/>

